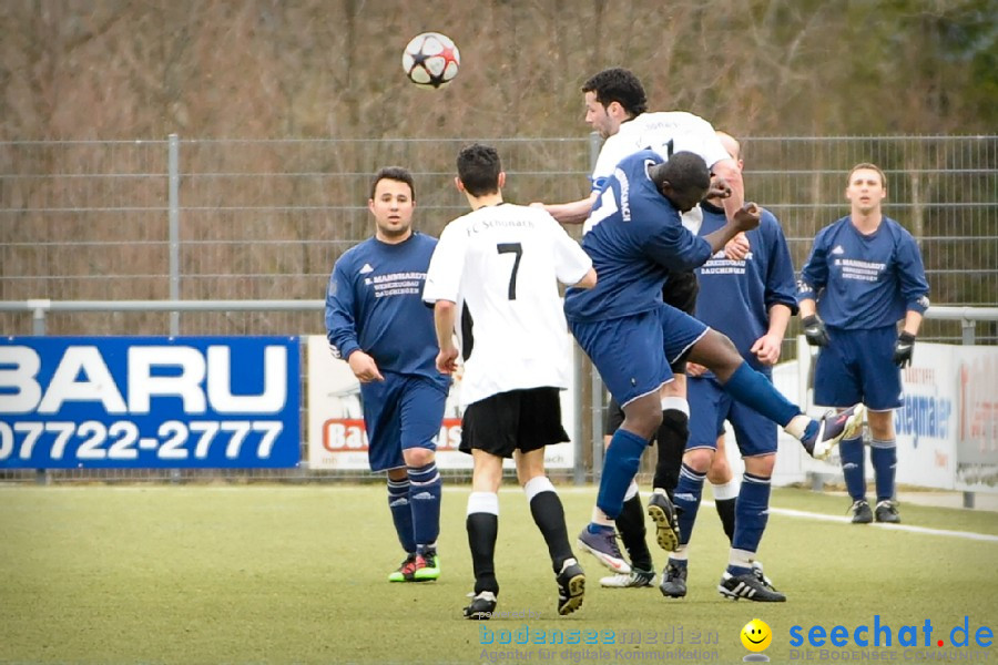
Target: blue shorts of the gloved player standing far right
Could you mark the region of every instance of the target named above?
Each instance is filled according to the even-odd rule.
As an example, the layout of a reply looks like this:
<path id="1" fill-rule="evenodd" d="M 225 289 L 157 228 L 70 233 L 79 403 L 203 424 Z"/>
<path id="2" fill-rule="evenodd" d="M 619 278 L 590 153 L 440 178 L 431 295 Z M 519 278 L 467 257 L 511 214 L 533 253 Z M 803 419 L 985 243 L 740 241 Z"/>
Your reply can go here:
<path id="1" fill-rule="evenodd" d="M 897 328 L 828 328 L 831 344 L 818 351 L 814 368 L 814 403 L 870 411 L 897 409 L 904 401 L 900 369 L 894 364 Z"/>

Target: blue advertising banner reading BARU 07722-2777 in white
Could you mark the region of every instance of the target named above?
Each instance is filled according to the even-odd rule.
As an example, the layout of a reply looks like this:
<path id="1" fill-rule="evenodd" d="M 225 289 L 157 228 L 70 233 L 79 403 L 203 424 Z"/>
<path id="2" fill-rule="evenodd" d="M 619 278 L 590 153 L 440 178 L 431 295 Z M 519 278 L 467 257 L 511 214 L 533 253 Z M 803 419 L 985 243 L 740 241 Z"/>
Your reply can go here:
<path id="1" fill-rule="evenodd" d="M 0 338 L 0 469 L 295 467 L 297 337 Z"/>

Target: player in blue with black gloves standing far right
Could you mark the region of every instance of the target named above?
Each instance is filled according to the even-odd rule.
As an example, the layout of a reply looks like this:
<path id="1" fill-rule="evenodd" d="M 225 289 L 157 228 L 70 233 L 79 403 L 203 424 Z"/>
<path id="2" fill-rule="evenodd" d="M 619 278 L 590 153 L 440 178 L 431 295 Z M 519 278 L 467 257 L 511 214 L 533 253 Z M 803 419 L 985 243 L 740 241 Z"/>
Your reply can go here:
<path id="1" fill-rule="evenodd" d="M 853 522 L 867 524 L 876 516 L 896 523 L 894 410 L 902 406 L 900 368 L 912 362 L 929 288 L 915 238 L 883 213 L 884 172 L 857 164 L 846 183 L 849 214 L 815 236 L 797 299 L 807 342 L 821 347 L 815 403 L 841 408 L 862 401 L 869 413 L 875 514 L 866 500 L 862 437 L 844 439 L 839 449 Z"/>

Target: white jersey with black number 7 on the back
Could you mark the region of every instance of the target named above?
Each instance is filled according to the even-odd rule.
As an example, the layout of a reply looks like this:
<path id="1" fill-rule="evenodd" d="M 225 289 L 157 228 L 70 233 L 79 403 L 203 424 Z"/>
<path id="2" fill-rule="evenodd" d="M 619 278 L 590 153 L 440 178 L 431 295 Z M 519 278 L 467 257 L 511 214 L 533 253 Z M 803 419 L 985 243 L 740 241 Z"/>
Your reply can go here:
<path id="1" fill-rule="evenodd" d="M 510 390 L 568 386 L 568 327 L 557 283 L 576 284 L 591 266 L 541 208 L 485 206 L 447 225 L 422 299 L 458 305 L 461 407 Z"/>

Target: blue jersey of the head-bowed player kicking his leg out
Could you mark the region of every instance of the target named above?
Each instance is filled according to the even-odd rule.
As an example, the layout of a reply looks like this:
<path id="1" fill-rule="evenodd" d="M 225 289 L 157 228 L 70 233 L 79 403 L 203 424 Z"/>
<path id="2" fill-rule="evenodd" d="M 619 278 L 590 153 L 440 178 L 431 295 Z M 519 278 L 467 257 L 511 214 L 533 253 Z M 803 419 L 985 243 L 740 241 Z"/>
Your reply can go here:
<path id="1" fill-rule="evenodd" d="M 662 303 L 668 270 L 692 270 L 711 255 L 648 175 L 663 158 L 641 151 L 618 164 L 585 223 L 582 248 L 592 257 L 595 288 L 570 288 L 570 321 L 598 321 L 650 311 Z"/>

